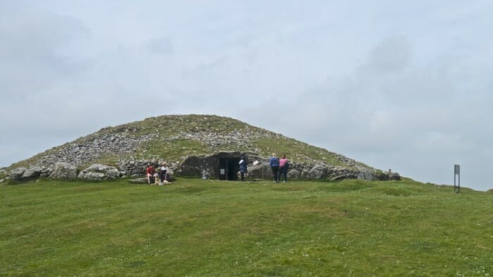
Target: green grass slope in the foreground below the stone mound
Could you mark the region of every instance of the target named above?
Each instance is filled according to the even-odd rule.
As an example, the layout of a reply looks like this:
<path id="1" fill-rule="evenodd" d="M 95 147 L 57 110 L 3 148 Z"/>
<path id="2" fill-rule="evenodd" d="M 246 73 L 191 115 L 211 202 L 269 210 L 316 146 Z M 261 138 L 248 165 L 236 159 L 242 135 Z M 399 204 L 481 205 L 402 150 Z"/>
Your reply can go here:
<path id="1" fill-rule="evenodd" d="M 491 276 L 493 194 L 414 181 L 0 186 L 1 276 Z"/>

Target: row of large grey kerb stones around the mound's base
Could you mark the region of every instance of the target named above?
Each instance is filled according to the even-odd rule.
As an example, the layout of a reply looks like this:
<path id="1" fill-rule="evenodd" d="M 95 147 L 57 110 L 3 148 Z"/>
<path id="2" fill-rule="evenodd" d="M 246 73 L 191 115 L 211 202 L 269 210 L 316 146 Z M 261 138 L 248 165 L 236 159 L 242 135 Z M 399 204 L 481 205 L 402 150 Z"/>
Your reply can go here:
<path id="1" fill-rule="evenodd" d="M 189 156 L 182 162 L 171 162 L 168 164 L 171 173 L 176 176 L 201 177 L 204 175 L 212 178 L 220 178 L 220 160 L 236 159 L 239 160 L 239 152 L 220 152 L 212 155 Z M 248 160 L 247 179 L 271 179 L 272 172 L 269 165 L 269 159 L 258 157 L 254 153 L 246 153 Z M 145 176 L 146 167 L 149 165 L 155 168 L 160 167 L 165 160 L 120 160 L 118 167 L 108 165 L 94 164 L 86 169 L 79 171 L 75 165 L 68 162 L 56 162 L 54 167 L 18 167 L 9 172 L 9 179 L 15 181 L 26 181 L 39 177 L 48 177 L 53 179 L 116 179 L 125 177 Z M 337 167 L 332 165 L 305 164 L 300 162 L 289 163 L 289 179 L 303 180 L 338 180 L 338 179 L 365 179 L 365 180 L 394 180 L 400 179 L 397 172 L 380 172 L 375 169 L 348 169 L 346 167 Z"/>

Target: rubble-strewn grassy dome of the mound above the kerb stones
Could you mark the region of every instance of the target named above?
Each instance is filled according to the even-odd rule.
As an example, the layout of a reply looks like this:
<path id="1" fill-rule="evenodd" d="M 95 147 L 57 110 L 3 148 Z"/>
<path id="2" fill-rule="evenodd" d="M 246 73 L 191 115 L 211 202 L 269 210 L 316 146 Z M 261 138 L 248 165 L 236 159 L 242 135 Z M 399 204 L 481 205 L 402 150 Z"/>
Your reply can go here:
<path id="1" fill-rule="evenodd" d="M 180 162 L 190 155 L 244 151 L 260 157 L 286 153 L 292 162 L 324 163 L 351 169 L 369 168 L 361 162 L 323 148 L 216 115 L 163 115 L 106 127 L 17 162 L 8 169 L 70 162 L 82 169 L 95 162 L 118 165 L 118 160 L 166 158 Z"/>

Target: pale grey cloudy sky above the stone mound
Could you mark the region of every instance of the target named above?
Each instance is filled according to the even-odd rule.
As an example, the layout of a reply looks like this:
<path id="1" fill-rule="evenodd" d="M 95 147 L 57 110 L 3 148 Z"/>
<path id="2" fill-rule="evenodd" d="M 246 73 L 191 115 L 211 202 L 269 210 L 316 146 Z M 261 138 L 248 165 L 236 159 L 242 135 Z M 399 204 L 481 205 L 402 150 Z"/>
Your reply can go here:
<path id="1" fill-rule="evenodd" d="M 234 117 L 493 188 L 493 2 L 0 0 L 0 167 L 102 127 Z"/>

